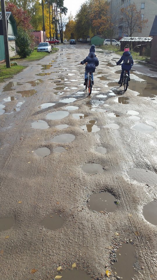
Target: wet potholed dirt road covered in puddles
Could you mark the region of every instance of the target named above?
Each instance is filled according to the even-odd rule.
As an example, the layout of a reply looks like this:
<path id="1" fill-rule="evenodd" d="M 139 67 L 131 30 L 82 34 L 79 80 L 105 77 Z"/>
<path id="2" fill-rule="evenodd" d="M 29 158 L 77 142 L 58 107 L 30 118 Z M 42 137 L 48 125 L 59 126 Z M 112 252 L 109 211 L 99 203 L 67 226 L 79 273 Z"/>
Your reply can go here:
<path id="1" fill-rule="evenodd" d="M 124 92 L 119 56 L 96 49 L 88 96 L 88 51 L 59 46 L 0 85 L 1 280 L 75 262 L 68 279 L 156 279 L 157 72 L 134 65 Z"/>

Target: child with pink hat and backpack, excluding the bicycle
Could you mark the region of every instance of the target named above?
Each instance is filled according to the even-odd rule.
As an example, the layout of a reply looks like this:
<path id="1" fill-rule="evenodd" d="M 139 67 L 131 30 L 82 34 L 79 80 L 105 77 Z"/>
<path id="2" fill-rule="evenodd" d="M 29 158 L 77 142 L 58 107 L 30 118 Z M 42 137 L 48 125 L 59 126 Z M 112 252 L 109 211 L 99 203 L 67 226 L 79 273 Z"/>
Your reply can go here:
<path id="1" fill-rule="evenodd" d="M 122 72 L 121 72 L 120 80 L 119 80 L 118 84 L 121 84 L 121 81 L 123 79 L 124 70 L 127 70 L 128 76 L 129 76 L 128 81 L 130 81 L 130 69 L 133 66 L 133 58 L 131 56 L 131 53 L 129 52 L 129 48 L 124 49 L 124 53 L 123 53 L 122 57 L 119 59 L 119 61 L 116 64 L 119 65 L 122 61 L 123 61 Z"/>

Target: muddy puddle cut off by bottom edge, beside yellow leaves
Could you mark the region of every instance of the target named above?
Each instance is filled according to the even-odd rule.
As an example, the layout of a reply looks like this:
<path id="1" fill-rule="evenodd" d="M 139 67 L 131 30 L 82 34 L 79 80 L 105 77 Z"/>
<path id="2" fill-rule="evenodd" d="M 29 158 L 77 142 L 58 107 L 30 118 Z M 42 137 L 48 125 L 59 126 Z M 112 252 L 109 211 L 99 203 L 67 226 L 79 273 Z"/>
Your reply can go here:
<path id="1" fill-rule="evenodd" d="M 87 273 L 76 268 L 62 270 L 61 273 L 54 274 L 54 277 L 56 277 L 56 275 L 63 276 L 63 278 L 61 279 L 64 280 L 92 280 L 93 279 Z"/>

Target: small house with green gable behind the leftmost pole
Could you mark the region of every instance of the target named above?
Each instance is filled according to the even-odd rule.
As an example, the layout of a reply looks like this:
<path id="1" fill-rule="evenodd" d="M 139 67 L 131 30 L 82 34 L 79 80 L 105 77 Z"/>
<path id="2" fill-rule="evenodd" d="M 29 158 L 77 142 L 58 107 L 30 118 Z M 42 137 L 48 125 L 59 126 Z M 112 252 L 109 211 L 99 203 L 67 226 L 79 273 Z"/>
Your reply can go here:
<path id="1" fill-rule="evenodd" d="M 13 57 L 16 55 L 15 37 L 17 36 L 17 26 L 11 12 L 6 12 L 6 20 L 7 20 L 7 27 L 8 27 L 9 55 L 10 57 Z M 5 48 L 4 48 L 4 38 L 3 38 L 2 13 L 0 12 L 0 63 L 4 61 L 5 61 Z"/>

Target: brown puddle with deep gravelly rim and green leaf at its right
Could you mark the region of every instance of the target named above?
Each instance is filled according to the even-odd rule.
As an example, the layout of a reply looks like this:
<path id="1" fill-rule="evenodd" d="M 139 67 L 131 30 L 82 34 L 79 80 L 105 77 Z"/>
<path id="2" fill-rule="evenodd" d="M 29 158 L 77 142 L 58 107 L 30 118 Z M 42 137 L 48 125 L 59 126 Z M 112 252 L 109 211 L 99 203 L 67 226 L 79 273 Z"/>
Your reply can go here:
<path id="1" fill-rule="evenodd" d="M 115 204 L 115 197 L 111 195 L 109 192 L 99 192 L 93 193 L 87 203 L 87 207 L 90 210 L 106 211 L 113 212 L 117 209 L 117 205 Z"/>

